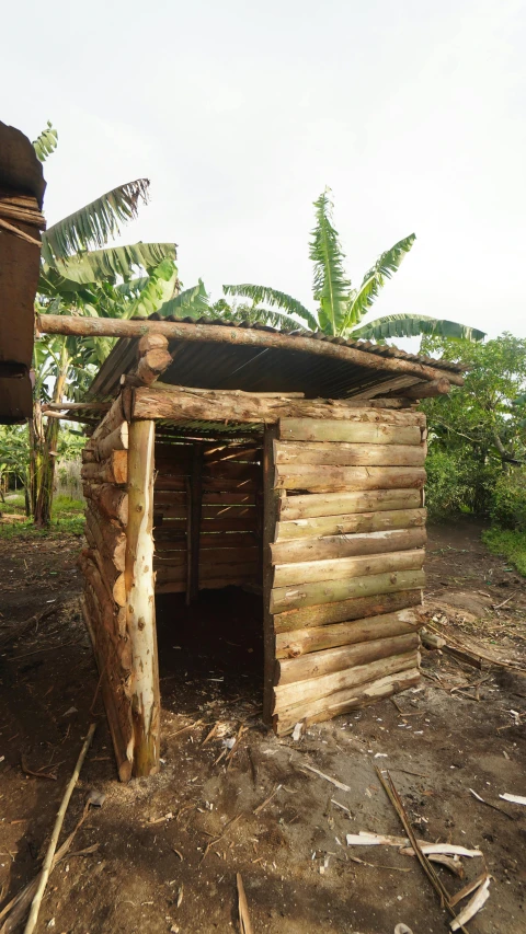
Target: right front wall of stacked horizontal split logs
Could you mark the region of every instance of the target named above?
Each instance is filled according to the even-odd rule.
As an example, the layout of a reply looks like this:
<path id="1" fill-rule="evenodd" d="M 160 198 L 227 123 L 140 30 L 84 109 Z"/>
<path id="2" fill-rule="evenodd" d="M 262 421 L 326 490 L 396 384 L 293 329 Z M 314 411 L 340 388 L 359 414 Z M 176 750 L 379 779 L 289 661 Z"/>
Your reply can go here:
<path id="1" fill-rule="evenodd" d="M 420 679 L 424 416 L 282 418 L 265 442 L 265 704 L 278 735 Z"/>

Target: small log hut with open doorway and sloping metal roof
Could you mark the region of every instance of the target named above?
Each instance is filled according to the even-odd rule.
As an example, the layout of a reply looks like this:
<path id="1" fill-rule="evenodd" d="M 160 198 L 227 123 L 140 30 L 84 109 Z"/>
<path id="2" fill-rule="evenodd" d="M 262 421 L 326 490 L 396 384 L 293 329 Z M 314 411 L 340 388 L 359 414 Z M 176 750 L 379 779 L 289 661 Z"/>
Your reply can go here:
<path id="1" fill-rule="evenodd" d="M 458 366 L 217 322 L 46 315 L 39 327 L 121 338 L 87 400 L 112 401 L 84 451 L 81 566 L 123 780 L 159 763 L 158 593 L 261 593 L 264 717 L 278 734 L 418 682 L 415 404 L 461 385 Z"/>

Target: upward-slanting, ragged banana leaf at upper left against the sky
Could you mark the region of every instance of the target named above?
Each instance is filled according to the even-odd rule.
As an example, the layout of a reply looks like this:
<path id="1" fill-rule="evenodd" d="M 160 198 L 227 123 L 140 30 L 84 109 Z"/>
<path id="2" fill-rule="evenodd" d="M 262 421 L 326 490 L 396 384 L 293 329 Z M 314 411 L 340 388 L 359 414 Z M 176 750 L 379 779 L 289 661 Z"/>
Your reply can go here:
<path id="1" fill-rule="evenodd" d="M 105 246 L 119 233 L 119 223 L 137 216 L 139 200 L 147 201 L 148 178 L 138 178 L 106 192 L 95 201 L 54 223 L 42 235 L 44 262 L 52 265 L 83 250 Z"/>

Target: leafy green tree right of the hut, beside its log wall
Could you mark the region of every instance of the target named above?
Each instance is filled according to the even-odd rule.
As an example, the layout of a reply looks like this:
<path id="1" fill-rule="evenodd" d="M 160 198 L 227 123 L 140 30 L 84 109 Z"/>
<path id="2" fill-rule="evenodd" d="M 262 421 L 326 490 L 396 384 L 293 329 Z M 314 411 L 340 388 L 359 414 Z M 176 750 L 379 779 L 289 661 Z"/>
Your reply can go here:
<path id="1" fill-rule="evenodd" d="M 526 389 L 526 341 L 511 334 L 485 344 L 425 337 L 421 350 L 468 367 L 462 388 L 453 388 L 449 395 L 422 403 L 430 428 L 430 510 L 444 516 L 470 510 L 503 519 L 504 508 L 511 512 L 522 501 L 526 527 L 526 420 L 522 399 Z"/>

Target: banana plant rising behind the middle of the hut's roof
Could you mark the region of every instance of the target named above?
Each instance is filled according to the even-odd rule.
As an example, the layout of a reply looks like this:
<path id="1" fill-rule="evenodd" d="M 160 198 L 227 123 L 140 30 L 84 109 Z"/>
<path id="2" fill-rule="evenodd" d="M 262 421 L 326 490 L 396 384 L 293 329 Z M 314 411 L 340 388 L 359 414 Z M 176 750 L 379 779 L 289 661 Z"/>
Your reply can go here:
<path id="1" fill-rule="evenodd" d="M 443 337 L 483 341 L 485 334 L 454 321 L 415 314 L 391 314 L 362 324 L 373 308 L 387 280 L 399 269 L 411 250 L 415 234 L 399 240 L 378 257 L 365 274 L 362 285 L 354 288 L 344 270 L 344 254 L 338 231 L 332 222 L 333 204 L 325 189 L 315 201 L 316 227 L 310 241 L 310 258 L 315 264 L 313 298 L 317 309 L 309 310 L 285 292 L 265 286 L 227 285 L 227 296 L 240 296 L 252 301 L 253 311 L 270 323 L 266 315 L 274 313 L 286 326 L 298 326 L 298 320 L 308 331 L 322 331 L 331 336 L 365 338 L 385 342 L 386 337 L 412 337 L 430 334 Z M 270 308 L 268 308 L 270 307 Z M 271 312 L 271 309 L 276 309 Z"/>

